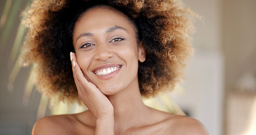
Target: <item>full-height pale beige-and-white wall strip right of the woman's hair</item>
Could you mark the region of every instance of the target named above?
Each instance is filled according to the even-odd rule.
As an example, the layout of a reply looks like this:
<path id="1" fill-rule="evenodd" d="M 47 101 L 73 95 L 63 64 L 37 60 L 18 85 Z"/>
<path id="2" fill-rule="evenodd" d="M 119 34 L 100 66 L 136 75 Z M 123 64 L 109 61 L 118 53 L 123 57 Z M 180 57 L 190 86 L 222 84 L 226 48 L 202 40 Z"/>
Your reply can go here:
<path id="1" fill-rule="evenodd" d="M 210 134 L 223 133 L 224 57 L 222 52 L 222 1 L 184 1 L 202 16 L 196 20 L 195 55 L 188 66 L 185 93 L 174 101 L 192 118 L 200 120 Z"/>

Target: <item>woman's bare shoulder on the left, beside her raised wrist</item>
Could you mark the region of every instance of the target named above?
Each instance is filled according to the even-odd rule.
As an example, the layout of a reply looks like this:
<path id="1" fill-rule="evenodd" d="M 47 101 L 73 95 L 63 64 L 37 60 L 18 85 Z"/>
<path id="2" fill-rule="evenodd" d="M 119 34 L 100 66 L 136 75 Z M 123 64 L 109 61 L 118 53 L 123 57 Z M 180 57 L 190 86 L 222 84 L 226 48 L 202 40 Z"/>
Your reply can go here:
<path id="1" fill-rule="evenodd" d="M 32 135 L 92 134 L 95 127 L 90 117 L 88 112 L 46 116 L 34 124 Z"/>

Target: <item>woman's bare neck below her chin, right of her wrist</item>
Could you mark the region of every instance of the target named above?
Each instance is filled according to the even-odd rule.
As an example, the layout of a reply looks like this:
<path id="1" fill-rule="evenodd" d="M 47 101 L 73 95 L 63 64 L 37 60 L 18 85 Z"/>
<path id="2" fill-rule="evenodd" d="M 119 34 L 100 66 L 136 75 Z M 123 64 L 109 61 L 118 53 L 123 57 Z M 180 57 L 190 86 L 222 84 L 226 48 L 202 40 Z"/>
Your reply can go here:
<path id="1" fill-rule="evenodd" d="M 124 91 L 107 98 L 114 107 L 115 129 L 140 126 L 140 119 L 149 112 L 149 107 L 142 102 L 138 81 L 134 81 Z"/>

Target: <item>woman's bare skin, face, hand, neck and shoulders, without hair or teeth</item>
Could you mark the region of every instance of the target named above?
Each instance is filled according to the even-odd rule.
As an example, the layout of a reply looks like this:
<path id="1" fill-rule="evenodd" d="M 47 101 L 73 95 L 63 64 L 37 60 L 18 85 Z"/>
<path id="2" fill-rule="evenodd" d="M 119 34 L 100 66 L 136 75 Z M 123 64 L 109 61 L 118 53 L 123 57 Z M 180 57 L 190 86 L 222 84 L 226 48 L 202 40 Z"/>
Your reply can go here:
<path id="1" fill-rule="evenodd" d="M 197 120 L 164 113 L 143 104 L 138 85 L 138 61 L 145 50 L 128 17 L 110 7 L 83 13 L 73 33 L 70 53 L 75 84 L 88 111 L 47 116 L 32 134 L 208 134 Z M 109 75 L 95 70 L 122 66 Z"/>

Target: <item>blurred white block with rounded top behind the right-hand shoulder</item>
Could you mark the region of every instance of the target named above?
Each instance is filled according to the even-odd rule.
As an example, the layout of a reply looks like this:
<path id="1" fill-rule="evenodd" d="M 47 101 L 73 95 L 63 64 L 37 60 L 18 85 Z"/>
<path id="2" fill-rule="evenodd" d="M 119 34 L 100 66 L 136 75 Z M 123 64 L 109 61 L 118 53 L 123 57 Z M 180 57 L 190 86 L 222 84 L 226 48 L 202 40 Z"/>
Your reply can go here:
<path id="1" fill-rule="evenodd" d="M 223 57 L 217 51 L 197 51 L 188 67 L 182 87 L 173 100 L 192 118 L 205 125 L 210 134 L 222 134 Z"/>

